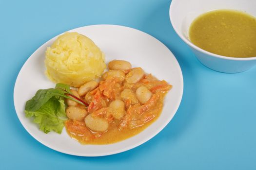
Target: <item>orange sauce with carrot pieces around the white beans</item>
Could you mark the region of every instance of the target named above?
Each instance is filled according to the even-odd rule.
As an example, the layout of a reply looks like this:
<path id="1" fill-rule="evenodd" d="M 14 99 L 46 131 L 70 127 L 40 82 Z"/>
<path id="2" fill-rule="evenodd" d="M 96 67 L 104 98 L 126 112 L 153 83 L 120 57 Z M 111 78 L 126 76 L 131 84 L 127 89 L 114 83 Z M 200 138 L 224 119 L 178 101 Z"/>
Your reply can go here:
<path id="1" fill-rule="evenodd" d="M 102 84 L 104 84 L 104 81 L 100 83 L 100 85 Z M 159 81 L 149 74 L 145 75 L 138 83 L 132 85 L 123 82 L 116 83 L 115 85 L 108 85 L 113 92 L 110 94 L 114 95 L 114 97 L 106 97 L 102 92 L 102 99 L 104 100 L 105 106 L 108 107 L 111 101 L 120 99 L 120 93 L 123 89 L 132 89 L 135 93 L 136 89 L 142 85 L 146 86 L 152 92 L 152 98 L 145 104 L 137 103 L 132 105 L 131 102 L 124 101 L 126 115 L 119 120 L 113 119 L 111 116 L 106 117 L 106 119 L 109 120 L 109 127 L 107 131 L 93 132 L 86 127 L 84 121 L 69 119 L 65 122 L 66 131 L 69 136 L 79 141 L 81 144 L 100 145 L 116 143 L 139 134 L 158 119 L 163 108 L 164 97 L 171 89 L 172 85 L 168 85 L 165 81 Z M 94 94 L 95 90 L 93 90 L 92 93 Z M 146 105 L 147 107 L 145 107 Z"/>

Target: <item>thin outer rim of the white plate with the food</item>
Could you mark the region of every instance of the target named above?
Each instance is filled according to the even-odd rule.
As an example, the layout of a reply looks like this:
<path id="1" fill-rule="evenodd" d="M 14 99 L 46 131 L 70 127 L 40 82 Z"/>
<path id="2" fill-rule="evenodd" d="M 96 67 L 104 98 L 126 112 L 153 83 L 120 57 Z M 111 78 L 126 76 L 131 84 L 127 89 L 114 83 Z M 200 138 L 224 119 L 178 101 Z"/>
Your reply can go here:
<path id="1" fill-rule="evenodd" d="M 24 65 L 27 63 L 27 61 L 31 58 L 31 56 L 34 55 L 34 53 L 36 53 L 36 52 L 37 52 L 42 46 L 44 46 L 47 42 L 51 41 L 52 39 L 58 37 L 58 36 L 61 35 L 61 34 L 64 34 L 65 32 L 71 32 L 71 31 L 75 31 L 75 30 L 77 30 L 77 29 L 82 29 L 82 28 L 85 28 L 85 27 L 86 27 L 86 28 L 87 28 L 87 27 L 95 27 L 95 26 L 124 27 L 124 28 L 127 28 L 127 29 L 132 29 L 132 30 L 134 30 L 134 31 L 138 31 L 138 32 L 140 32 L 140 33 L 142 33 L 142 34 L 146 34 L 146 35 L 148 35 L 148 36 L 150 36 L 150 37 L 153 37 L 155 40 L 158 41 L 158 43 L 162 44 L 164 48 L 166 48 L 169 52 L 171 52 L 171 54 L 173 55 L 173 58 L 174 58 L 174 60 L 175 60 L 175 62 L 176 62 L 176 64 L 177 64 L 177 66 L 178 66 L 178 67 L 177 67 L 177 68 L 178 68 L 178 71 L 180 72 L 179 78 L 180 78 L 180 83 L 181 83 L 181 87 L 180 87 L 181 91 L 180 91 L 180 96 L 179 96 L 179 98 L 177 99 L 177 103 L 178 103 L 178 104 L 176 105 L 175 109 L 173 110 L 173 112 L 174 112 L 173 116 L 170 117 L 170 118 L 168 119 L 168 121 L 166 121 L 164 124 L 162 124 L 162 126 L 160 126 L 160 127 L 159 127 L 156 131 L 154 131 L 150 136 L 145 137 L 143 140 L 140 140 L 140 141 L 138 141 L 138 142 L 135 143 L 135 144 L 129 145 L 129 146 L 124 147 L 124 148 L 122 148 L 122 149 L 118 149 L 118 150 L 115 150 L 115 151 L 107 152 L 107 153 L 104 153 L 104 154 L 86 154 L 86 153 L 85 153 L 85 154 L 76 154 L 76 153 L 72 153 L 72 152 L 61 151 L 61 150 L 56 149 L 56 148 L 54 148 L 54 147 L 52 147 L 52 146 L 49 146 L 48 144 L 43 143 L 43 141 L 40 141 L 36 136 L 33 135 L 33 133 L 30 132 L 30 130 L 28 130 L 28 127 L 25 125 L 25 123 L 21 121 L 21 118 L 20 118 L 20 116 L 19 116 L 19 114 L 18 114 L 18 112 L 17 112 L 17 108 L 16 108 L 17 106 L 16 106 L 16 104 L 15 104 L 15 103 L 16 103 L 16 102 L 15 102 L 15 91 L 16 91 L 16 88 L 17 88 L 17 80 L 18 80 L 18 78 L 19 78 L 19 76 L 20 76 L 20 72 L 21 72 L 22 68 L 24 68 Z M 16 78 L 16 80 L 15 80 L 15 85 L 14 85 L 14 88 L 13 88 L 13 102 L 14 102 L 14 107 L 15 107 L 16 115 L 17 115 L 18 119 L 20 120 L 21 125 L 22 125 L 23 128 L 28 132 L 28 134 L 31 135 L 34 139 L 36 139 L 39 143 L 43 144 L 44 146 L 46 146 L 46 147 L 48 147 L 48 148 L 50 148 L 50 149 L 52 149 L 52 150 L 54 150 L 54 151 L 60 152 L 60 153 L 65 153 L 65 154 L 70 154 L 70 155 L 75 155 L 75 156 L 96 157 L 96 156 L 106 156 L 106 155 L 112 155 L 112 154 L 122 153 L 122 152 L 125 152 L 125 151 L 128 151 L 128 150 L 134 149 L 134 148 L 136 148 L 136 147 L 142 145 L 143 143 L 149 141 L 149 140 L 152 139 L 154 136 L 158 135 L 158 133 L 161 132 L 161 131 L 170 123 L 170 121 L 173 119 L 173 117 L 176 115 L 177 110 L 178 110 L 178 108 L 179 108 L 179 105 L 180 105 L 180 103 L 181 103 L 181 101 L 182 101 L 183 91 L 184 91 L 184 80 L 183 80 L 182 70 L 181 70 L 180 65 L 179 65 L 179 63 L 178 63 L 178 61 L 177 61 L 177 58 L 175 57 L 175 55 L 173 54 L 173 52 L 172 52 L 164 43 L 162 43 L 160 40 L 158 40 L 158 39 L 157 39 L 156 37 L 154 37 L 153 35 L 150 35 L 150 34 L 148 34 L 148 33 L 145 33 L 145 32 L 143 32 L 143 31 L 140 31 L 140 30 L 138 30 L 138 29 L 131 28 L 131 27 L 128 27 L 128 26 L 116 25 L 116 24 L 94 24 L 94 25 L 86 25 L 86 26 L 77 27 L 77 28 L 74 28 L 74 29 L 71 29 L 71 30 L 68 30 L 68 31 L 64 31 L 64 32 L 62 32 L 62 33 L 60 33 L 60 34 L 58 34 L 58 35 L 52 37 L 51 39 L 47 40 L 47 41 L 44 42 L 42 45 L 40 45 L 40 46 L 26 59 L 26 61 L 23 63 L 22 67 L 20 68 L 20 71 L 19 71 L 19 73 L 18 73 L 18 75 L 17 75 L 17 78 Z M 138 134 L 137 134 L 137 135 L 138 135 Z M 115 144 L 115 143 L 113 143 L 113 144 Z M 112 144 L 110 144 L 110 145 L 112 145 Z"/>

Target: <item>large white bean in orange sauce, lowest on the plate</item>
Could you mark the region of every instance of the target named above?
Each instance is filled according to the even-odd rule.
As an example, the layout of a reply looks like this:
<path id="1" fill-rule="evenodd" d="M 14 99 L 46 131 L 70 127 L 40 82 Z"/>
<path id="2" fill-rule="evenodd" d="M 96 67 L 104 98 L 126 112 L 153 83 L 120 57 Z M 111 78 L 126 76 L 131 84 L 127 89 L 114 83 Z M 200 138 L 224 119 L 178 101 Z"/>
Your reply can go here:
<path id="1" fill-rule="evenodd" d="M 90 114 L 84 121 L 85 125 L 93 131 L 105 132 L 108 130 L 108 121 L 104 118 L 92 117 L 92 114 Z"/>

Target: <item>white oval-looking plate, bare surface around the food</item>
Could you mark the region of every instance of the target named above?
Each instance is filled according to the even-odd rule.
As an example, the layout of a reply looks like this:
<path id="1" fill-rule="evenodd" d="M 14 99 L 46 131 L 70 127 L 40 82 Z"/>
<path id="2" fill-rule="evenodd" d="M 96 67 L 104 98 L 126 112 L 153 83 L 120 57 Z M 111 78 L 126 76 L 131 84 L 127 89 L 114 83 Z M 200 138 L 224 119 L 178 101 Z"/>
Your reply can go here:
<path id="1" fill-rule="evenodd" d="M 25 102 L 31 99 L 37 90 L 53 88 L 44 75 L 44 55 L 51 46 L 54 37 L 44 43 L 25 62 L 14 87 L 14 105 L 21 124 L 28 133 L 43 145 L 59 151 L 79 156 L 103 156 L 121 153 L 135 148 L 157 135 L 175 115 L 183 93 L 183 77 L 173 53 L 160 41 L 149 34 L 136 29 L 117 25 L 91 25 L 70 30 L 90 37 L 106 54 L 106 63 L 113 59 L 129 61 L 133 67 L 141 67 L 158 79 L 164 79 L 173 88 L 167 94 L 161 116 L 140 134 L 109 145 L 81 145 L 67 135 L 63 129 L 59 135 L 54 132 L 44 134 L 32 119 L 24 114 Z"/>

